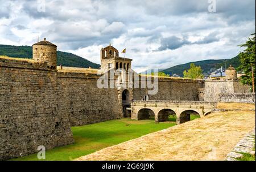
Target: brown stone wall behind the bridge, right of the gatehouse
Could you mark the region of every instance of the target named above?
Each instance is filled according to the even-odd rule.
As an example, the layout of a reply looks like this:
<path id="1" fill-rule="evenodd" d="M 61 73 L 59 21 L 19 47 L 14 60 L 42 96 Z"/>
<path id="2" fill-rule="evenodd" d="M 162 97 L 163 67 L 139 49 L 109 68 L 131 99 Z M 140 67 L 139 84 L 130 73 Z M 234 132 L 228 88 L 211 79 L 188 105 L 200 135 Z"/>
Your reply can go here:
<path id="1" fill-rule="evenodd" d="M 203 87 L 201 81 L 184 80 L 184 79 L 169 79 L 158 81 L 158 92 L 148 95 L 148 100 L 199 100 L 198 89 Z M 152 89 L 150 89 L 152 90 Z M 148 89 L 134 88 L 133 99 L 142 100 L 148 94 Z"/>

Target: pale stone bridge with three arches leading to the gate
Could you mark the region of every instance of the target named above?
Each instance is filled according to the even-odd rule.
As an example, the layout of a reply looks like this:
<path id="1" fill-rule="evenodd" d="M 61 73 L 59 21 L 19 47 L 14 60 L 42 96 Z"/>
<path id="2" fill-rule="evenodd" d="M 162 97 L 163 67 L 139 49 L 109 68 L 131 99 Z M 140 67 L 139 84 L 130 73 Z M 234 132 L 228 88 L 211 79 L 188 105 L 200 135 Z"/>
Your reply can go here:
<path id="1" fill-rule="evenodd" d="M 176 115 L 177 124 L 190 121 L 191 114 L 208 115 L 216 107 L 214 102 L 204 101 L 132 101 L 131 119 L 143 120 L 155 117 L 155 122 L 168 121 L 170 114 Z"/>

